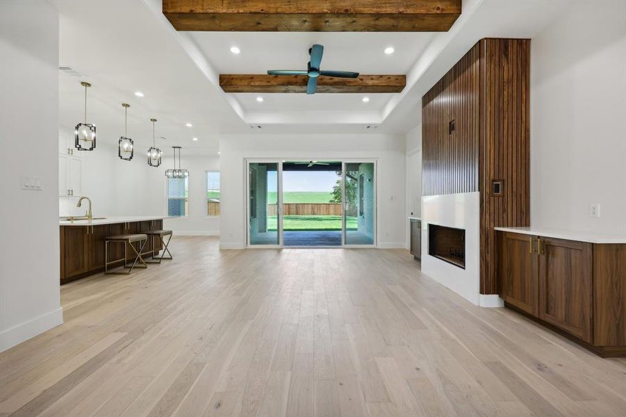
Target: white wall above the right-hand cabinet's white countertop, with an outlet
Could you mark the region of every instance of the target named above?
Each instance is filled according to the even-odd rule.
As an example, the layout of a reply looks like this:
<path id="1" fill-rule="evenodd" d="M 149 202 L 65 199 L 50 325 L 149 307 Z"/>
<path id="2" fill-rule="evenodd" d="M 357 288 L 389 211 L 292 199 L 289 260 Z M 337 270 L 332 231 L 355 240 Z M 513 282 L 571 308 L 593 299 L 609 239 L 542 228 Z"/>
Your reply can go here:
<path id="1" fill-rule="evenodd" d="M 532 39 L 534 226 L 626 232 L 626 1 L 600 3 Z"/>

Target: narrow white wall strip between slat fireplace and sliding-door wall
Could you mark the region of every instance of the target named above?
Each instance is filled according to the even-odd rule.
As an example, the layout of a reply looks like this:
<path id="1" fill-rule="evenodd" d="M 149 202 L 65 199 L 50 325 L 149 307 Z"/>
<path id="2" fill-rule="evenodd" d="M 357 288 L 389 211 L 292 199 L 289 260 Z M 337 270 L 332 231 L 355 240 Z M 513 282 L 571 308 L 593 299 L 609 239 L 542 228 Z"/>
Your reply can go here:
<path id="1" fill-rule="evenodd" d="M 422 124 L 406 133 L 406 216 L 422 213 Z M 409 220 L 406 222 L 406 247 L 409 247 Z"/>

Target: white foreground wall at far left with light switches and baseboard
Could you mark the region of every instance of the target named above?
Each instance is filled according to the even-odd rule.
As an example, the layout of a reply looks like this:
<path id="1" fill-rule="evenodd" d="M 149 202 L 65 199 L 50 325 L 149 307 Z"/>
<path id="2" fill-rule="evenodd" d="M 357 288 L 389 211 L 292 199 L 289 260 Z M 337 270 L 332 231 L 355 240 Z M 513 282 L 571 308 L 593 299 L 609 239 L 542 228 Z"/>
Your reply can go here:
<path id="1" fill-rule="evenodd" d="M 0 350 L 63 322 L 59 304 L 58 12 L 0 1 Z M 22 190 L 22 176 L 42 179 Z"/>

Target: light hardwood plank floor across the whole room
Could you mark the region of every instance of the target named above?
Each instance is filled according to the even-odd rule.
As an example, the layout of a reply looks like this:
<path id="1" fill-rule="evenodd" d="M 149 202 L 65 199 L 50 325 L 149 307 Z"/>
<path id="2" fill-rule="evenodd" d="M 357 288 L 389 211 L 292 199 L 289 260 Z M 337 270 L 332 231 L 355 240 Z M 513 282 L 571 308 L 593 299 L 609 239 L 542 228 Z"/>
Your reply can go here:
<path id="1" fill-rule="evenodd" d="M 626 361 L 481 309 L 405 250 L 229 250 L 61 288 L 0 416 L 624 416 Z"/>

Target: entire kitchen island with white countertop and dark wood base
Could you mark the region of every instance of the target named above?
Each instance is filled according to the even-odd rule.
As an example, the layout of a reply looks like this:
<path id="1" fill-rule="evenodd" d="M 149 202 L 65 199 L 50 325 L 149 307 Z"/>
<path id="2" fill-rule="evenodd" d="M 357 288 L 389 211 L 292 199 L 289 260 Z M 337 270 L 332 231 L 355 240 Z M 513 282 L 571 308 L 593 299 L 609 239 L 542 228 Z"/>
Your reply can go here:
<path id="1" fill-rule="evenodd" d="M 65 220 L 69 217 L 61 218 L 59 220 L 60 283 L 65 284 L 104 271 L 104 238 L 106 236 L 160 230 L 163 229 L 164 218 L 165 216 L 108 216 L 74 221 Z M 140 249 L 138 243 L 134 245 L 137 250 Z M 143 249 L 143 256 L 156 256 L 162 247 L 160 240 L 155 240 L 153 247 L 151 239 L 148 239 Z M 109 261 L 120 259 L 119 265 L 122 265 L 123 245 L 109 245 L 109 256 Z M 128 261 L 132 262 L 135 259 L 132 250 L 128 251 L 127 256 Z"/>

